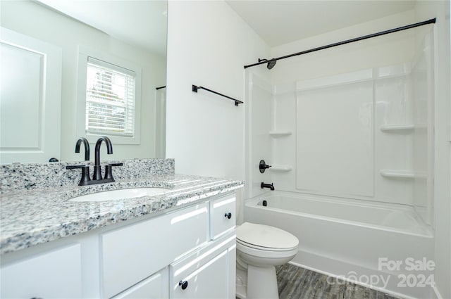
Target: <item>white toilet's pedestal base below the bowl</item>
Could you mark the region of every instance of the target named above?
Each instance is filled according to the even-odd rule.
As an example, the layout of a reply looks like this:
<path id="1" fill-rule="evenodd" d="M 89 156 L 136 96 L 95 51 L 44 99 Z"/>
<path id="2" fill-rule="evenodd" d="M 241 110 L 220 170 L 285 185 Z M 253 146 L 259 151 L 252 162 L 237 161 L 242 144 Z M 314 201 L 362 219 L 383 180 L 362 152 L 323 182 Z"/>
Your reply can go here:
<path id="1" fill-rule="evenodd" d="M 236 297 L 240 299 L 278 299 L 276 267 L 247 266 L 237 269 Z"/>

